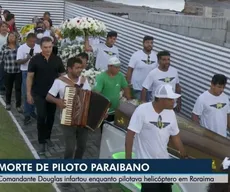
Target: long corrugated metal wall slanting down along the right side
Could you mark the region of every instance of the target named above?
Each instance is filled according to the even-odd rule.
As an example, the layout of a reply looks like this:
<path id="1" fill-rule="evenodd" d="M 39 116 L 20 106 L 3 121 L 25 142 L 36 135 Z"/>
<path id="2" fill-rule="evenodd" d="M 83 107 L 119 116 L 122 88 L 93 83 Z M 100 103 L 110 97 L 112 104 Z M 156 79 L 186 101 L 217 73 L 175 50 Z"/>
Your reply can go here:
<path id="1" fill-rule="evenodd" d="M 179 71 L 183 91 L 182 113 L 186 116 L 191 115 L 197 97 L 209 88 L 213 74 L 223 73 L 230 79 L 230 49 L 66 2 L 65 18 L 75 16 L 94 17 L 105 22 L 108 29 L 119 33 L 117 46 L 123 72 L 127 70 L 131 54 L 142 48 L 143 36 L 154 36 L 154 50 L 170 51 L 171 64 Z M 226 92 L 230 94 L 229 86 Z"/>

